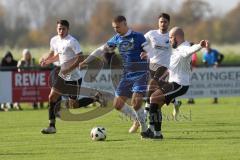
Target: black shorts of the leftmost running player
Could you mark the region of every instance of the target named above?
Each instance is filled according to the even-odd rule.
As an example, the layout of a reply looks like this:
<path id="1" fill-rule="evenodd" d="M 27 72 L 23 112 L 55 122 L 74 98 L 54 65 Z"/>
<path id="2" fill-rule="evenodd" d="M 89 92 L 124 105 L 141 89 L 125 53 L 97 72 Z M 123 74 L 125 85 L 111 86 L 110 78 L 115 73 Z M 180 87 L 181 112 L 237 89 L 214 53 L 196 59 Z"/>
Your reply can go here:
<path id="1" fill-rule="evenodd" d="M 60 76 L 52 80 L 52 88 L 62 96 L 68 96 L 70 99 L 77 99 L 80 94 L 82 78 L 77 81 L 65 81 Z"/>

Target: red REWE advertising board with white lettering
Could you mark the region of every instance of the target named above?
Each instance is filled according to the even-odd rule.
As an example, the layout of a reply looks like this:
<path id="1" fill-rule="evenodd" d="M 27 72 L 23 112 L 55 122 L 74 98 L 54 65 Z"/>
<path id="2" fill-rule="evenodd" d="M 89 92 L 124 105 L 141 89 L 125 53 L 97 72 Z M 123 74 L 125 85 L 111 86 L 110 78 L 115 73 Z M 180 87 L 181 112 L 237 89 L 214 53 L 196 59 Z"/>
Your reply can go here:
<path id="1" fill-rule="evenodd" d="M 46 102 L 50 71 L 12 72 L 13 102 Z"/>

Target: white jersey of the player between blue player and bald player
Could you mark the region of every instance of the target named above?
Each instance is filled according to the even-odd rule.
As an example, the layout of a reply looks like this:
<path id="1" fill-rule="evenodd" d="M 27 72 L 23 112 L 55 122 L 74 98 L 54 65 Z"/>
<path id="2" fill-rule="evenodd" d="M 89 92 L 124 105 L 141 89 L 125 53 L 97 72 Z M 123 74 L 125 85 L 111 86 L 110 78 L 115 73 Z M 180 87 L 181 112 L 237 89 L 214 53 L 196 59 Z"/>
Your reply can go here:
<path id="1" fill-rule="evenodd" d="M 147 42 L 152 47 L 150 63 L 157 63 L 164 67 L 169 67 L 171 45 L 169 43 L 169 33 L 162 34 L 160 30 L 150 30 L 145 35 Z"/>

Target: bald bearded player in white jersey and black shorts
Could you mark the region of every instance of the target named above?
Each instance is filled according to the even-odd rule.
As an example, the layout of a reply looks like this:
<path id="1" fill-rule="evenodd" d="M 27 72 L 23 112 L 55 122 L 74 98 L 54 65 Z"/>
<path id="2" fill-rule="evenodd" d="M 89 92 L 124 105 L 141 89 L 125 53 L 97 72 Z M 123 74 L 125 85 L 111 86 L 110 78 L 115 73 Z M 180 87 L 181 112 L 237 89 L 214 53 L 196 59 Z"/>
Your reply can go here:
<path id="1" fill-rule="evenodd" d="M 193 53 L 208 45 L 207 40 L 190 46 L 184 40 L 184 32 L 179 27 L 174 27 L 169 32 L 170 44 L 173 48 L 169 65 L 169 80 L 162 84 L 150 97 L 150 117 L 154 124 L 154 136 L 149 138 L 162 139 L 161 125 L 163 104 L 169 104 L 174 98 L 185 94 L 190 85 L 191 56 Z"/>

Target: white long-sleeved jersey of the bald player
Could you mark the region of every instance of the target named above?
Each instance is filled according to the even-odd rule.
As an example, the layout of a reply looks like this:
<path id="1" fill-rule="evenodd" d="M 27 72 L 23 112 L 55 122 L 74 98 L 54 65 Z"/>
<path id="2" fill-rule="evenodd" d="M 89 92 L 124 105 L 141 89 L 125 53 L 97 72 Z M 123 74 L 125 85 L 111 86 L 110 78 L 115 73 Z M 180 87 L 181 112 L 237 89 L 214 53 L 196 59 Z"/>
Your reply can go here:
<path id="1" fill-rule="evenodd" d="M 179 85 L 189 86 L 191 76 L 192 54 L 200 50 L 199 44 L 190 46 L 185 41 L 176 49 L 172 50 L 169 66 L 169 82 L 176 82 Z"/>

